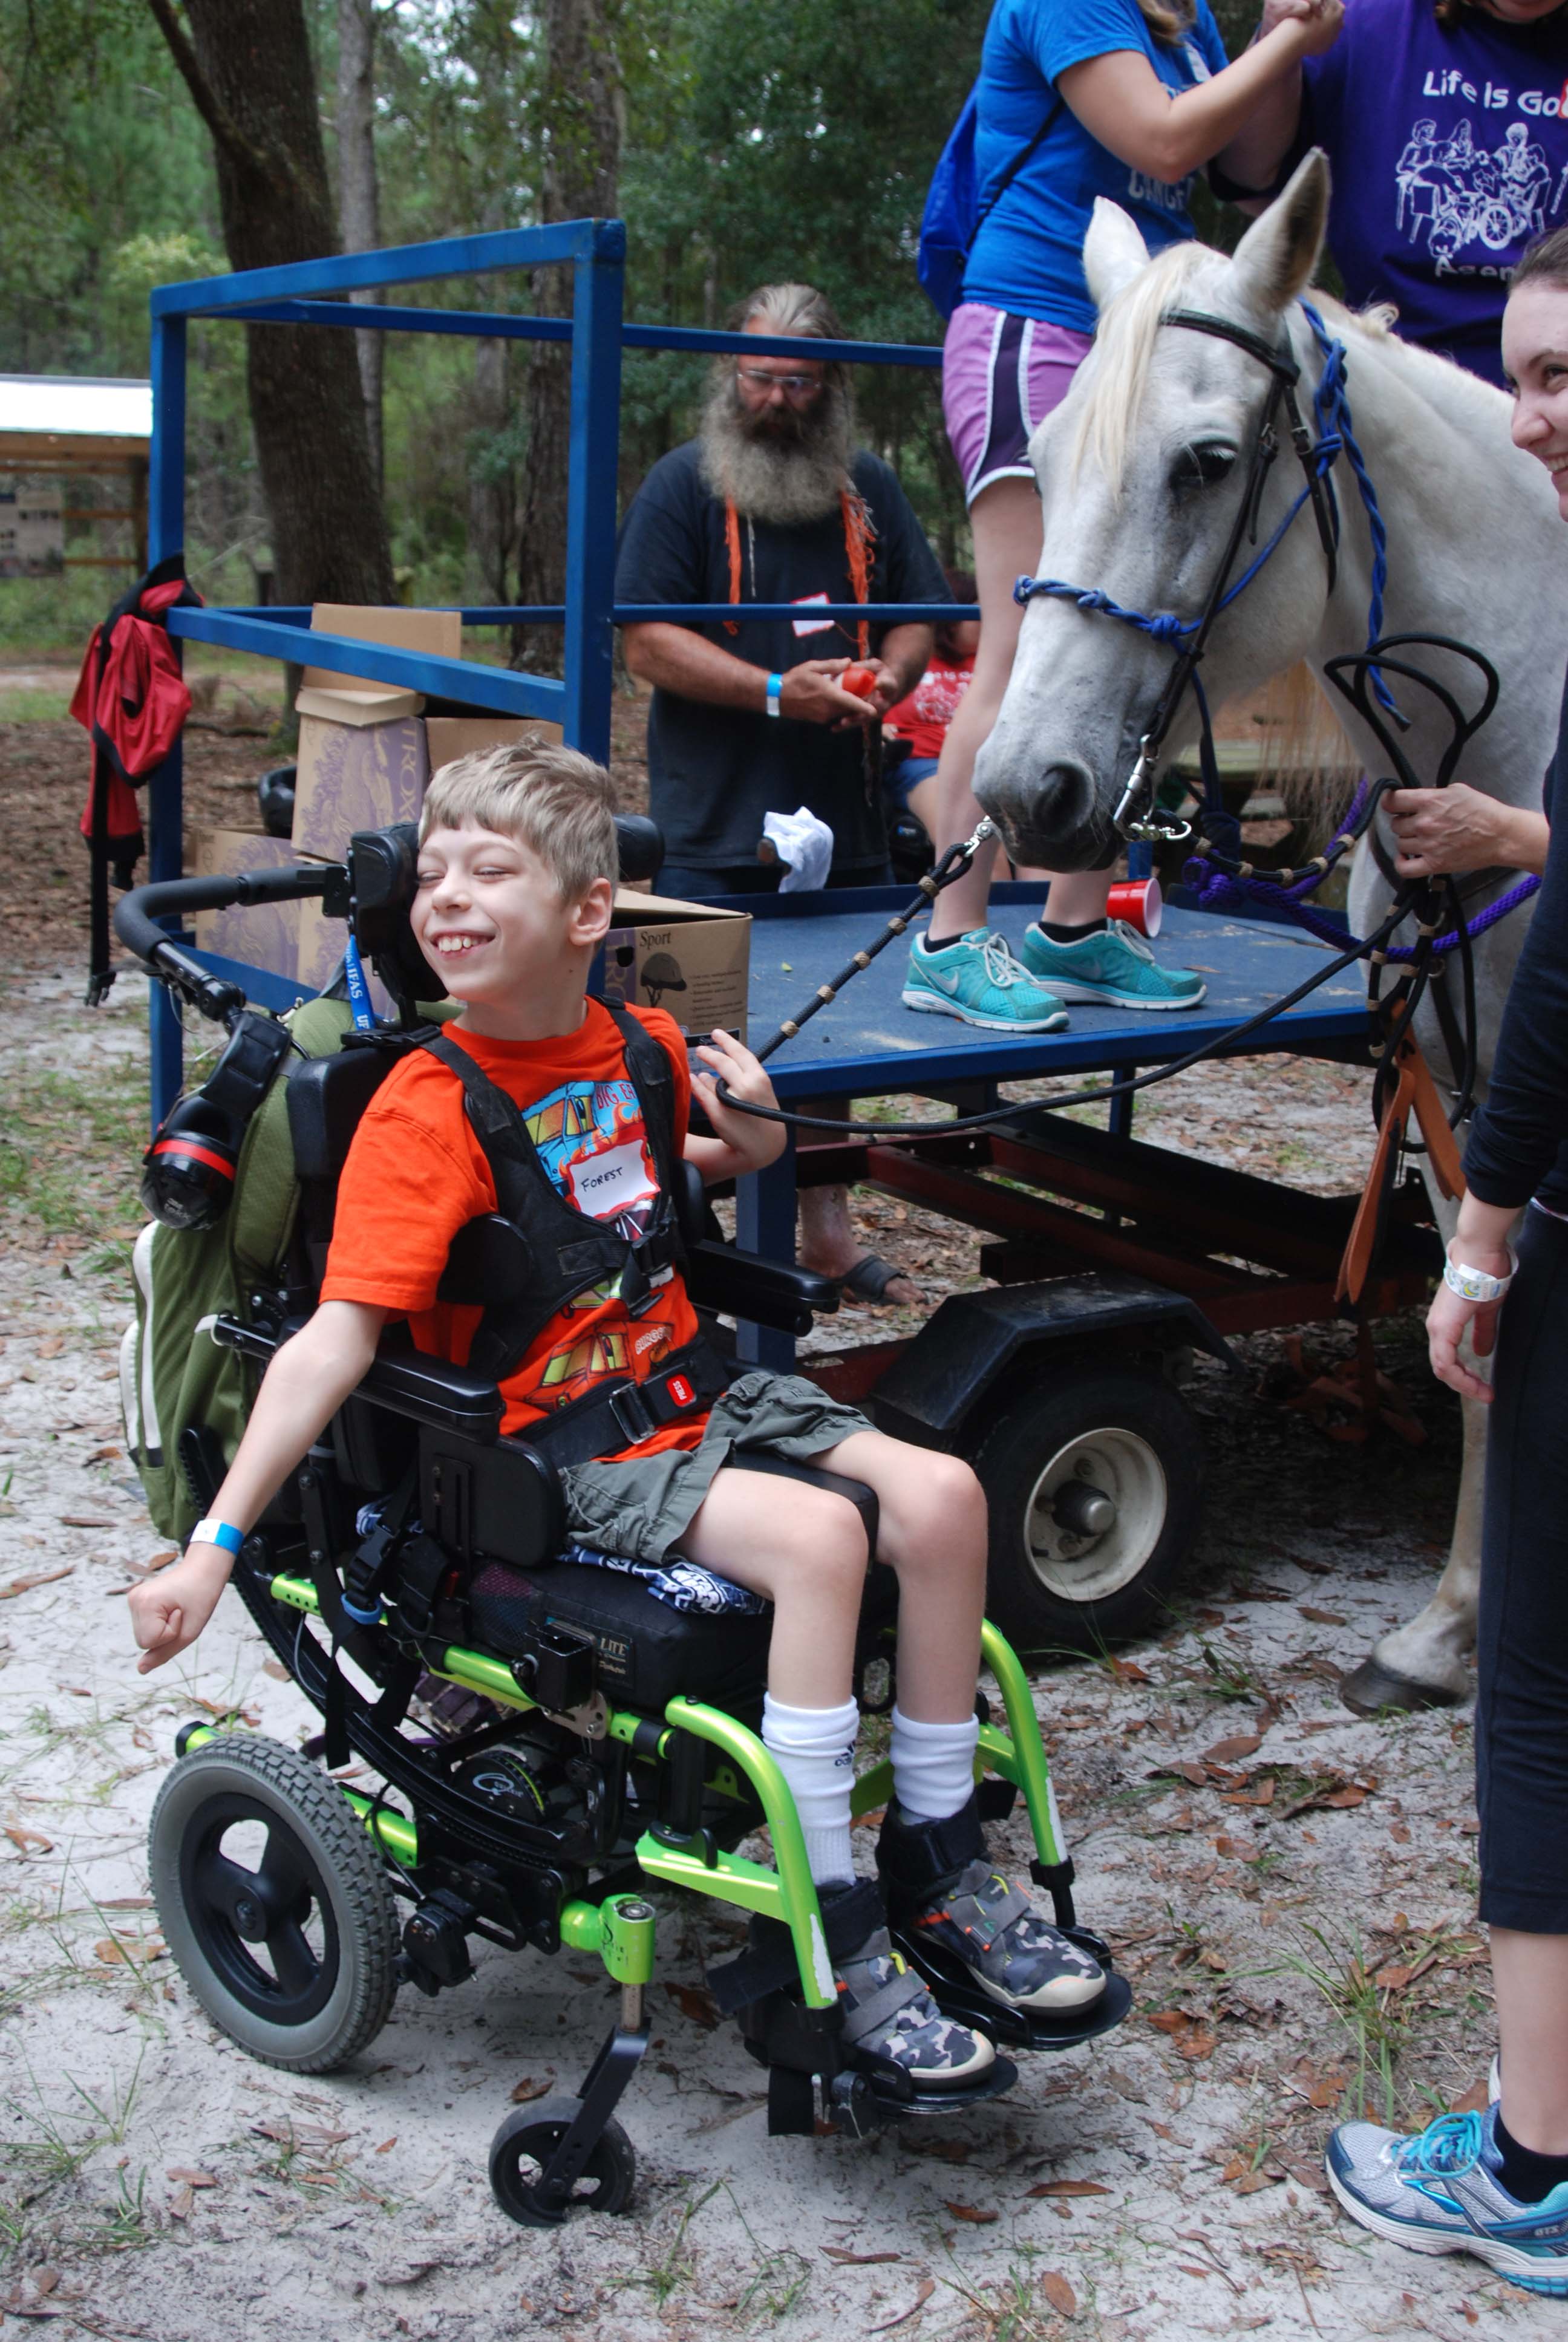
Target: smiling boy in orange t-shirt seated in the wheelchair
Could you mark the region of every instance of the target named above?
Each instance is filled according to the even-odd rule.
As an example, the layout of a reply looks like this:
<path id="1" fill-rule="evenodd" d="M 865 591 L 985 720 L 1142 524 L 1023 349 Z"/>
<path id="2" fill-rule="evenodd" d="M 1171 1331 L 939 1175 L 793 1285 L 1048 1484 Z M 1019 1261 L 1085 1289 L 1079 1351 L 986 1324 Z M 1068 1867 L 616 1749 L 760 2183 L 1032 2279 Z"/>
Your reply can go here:
<path id="1" fill-rule="evenodd" d="M 703 1342 L 680 1276 L 680 1159 L 703 1180 L 736 1178 L 773 1162 L 783 1129 L 717 1096 L 722 1077 L 773 1103 L 731 1035 L 715 1033 L 691 1075 L 670 1016 L 586 998 L 612 918 L 612 810 L 609 775 L 560 747 L 492 749 L 434 778 L 410 916 L 459 1016 L 401 1056 L 359 1122 L 321 1302 L 274 1354 L 185 1557 L 131 1593 L 141 1670 L 199 1637 L 246 1534 L 368 1372 L 387 1321 L 408 1319 L 422 1351 L 495 1368 L 502 1431 L 560 1468 L 572 1536 L 701 1562 L 773 1604 L 762 1740 L 799 1810 L 846 2045 L 919 2091 L 968 2089 L 994 2045 L 942 2016 L 893 1953 L 888 1918 L 1001 2009 L 1066 2016 L 1106 1988 L 991 1869 L 980 1831 L 984 1497 L 956 1457 L 886 1438 L 802 1377 L 729 1379 Z M 687 1134 L 694 1082 L 715 1136 Z M 452 1239 L 485 1213 L 551 1267 L 525 1300 L 441 1302 Z M 851 1860 L 863 1511 L 825 1478 L 769 1501 L 769 1459 L 872 1490 L 874 1557 L 898 1576 L 879 1888 L 855 1883 Z M 762 1944 L 738 1965 L 745 1998 L 780 1981 Z"/>

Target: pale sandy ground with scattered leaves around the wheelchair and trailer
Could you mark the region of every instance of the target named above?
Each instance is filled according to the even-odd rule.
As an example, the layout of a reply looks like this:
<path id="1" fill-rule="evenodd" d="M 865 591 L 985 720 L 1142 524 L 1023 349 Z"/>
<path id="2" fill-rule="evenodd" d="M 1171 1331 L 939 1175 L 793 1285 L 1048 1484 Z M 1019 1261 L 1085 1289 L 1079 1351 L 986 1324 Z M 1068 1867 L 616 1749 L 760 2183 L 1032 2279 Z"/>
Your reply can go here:
<path id="1" fill-rule="evenodd" d="M 59 796 L 38 799 L 40 836 L 59 831 Z M 157 1937 L 148 1813 L 180 1721 L 239 1710 L 295 1745 L 314 1714 L 232 1600 L 185 1665 L 131 1670 L 122 1593 L 159 1550 L 115 1391 L 143 1002 L 122 984 L 82 1012 L 70 878 L 0 991 L 0 2314 L 157 2342 L 1559 2330 L 1477 2262 L 1373 2244 L 1320 2171 L 1336 2117 L 1467 2103 L 1493 2047 L 1467 1719 L 1371 1724 L 1336 1700 L 1446 1541 L 1458 1422 L 1413 1323 L 1380 1349 L 1418 1450 L 1324 1440 L 1282 1403 L 1273 1337 L 1245 1344 L 1247 1384 L 1200 1368 L 1209 1504 L 1170 1632 L 1036 1675 L 1080 1909 L 1137 1991 L 1109 2040 L 1027 2063 L 966 2120 L 769 2141 L 759 2075 L 701 1988 L 724 1927 L 668 1906 L 623 2103 L 633 2209 L 527 2232 L 495 2209 L 485 2150 L 513 2098 L 581 2080 L 612 2016 L 591 1963 L 478 1946 L 471 1984 L 405 1991 L 321 2080 L 216 2035 Z M 1230 1066 L 1141 1129 L 1329 1190 L 1366 1157 L 1359 1077 L 1324 1068 L 1263 1087 Z M 863 1227 L 933 1293 L 973 1274 L 921 1215 L 870 1199 Z M 1003 1843 L 1024 1855 L 1017 1827 Z"/>

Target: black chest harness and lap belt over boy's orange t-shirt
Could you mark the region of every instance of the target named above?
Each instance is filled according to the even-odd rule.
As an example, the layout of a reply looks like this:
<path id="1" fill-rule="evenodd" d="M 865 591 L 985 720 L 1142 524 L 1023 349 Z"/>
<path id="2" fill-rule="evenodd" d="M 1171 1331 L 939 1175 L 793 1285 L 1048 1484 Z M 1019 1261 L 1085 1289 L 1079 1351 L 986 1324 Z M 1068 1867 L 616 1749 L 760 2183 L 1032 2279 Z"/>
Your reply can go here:
<path id="1" fill-rule="evenodd" d="M 485 1300 L 469 1349 L 469 1365 L 495 1382 L 516 1375 L 551 1319 L 586 1293 L 609 1288 L 619 1293 L 633 1321 L 647 1316 L 668 1276 L 677 1274 L 687 1258 L 675 1211 L 680 1148 L 670 1061 L 635 1016 L 623 1009 L 609 1014 L 621 1035 L 626 1075 L 638 1096 L 659 1183 L 640 1237 L 628 1237 L 614 1220 L 595 1220 L 567 1204 L 506 1091 L 459 1042 L 445 1035 L 424 1042 L 427 1054 L 462 1082 L 469 1127 L 495 1180 L 497 1215 L 516 1239 L 513 1272 L 504 1288 Z M 642 1382 L 635 1375 L 600 1382 L 546 1422 L 527 1424 L 518 1436 L 541 1447 L 551 1464 L 565 1471 L 635 1447 L 661 1424 L 698 1412 L 729 1379 L 724 1361 L 698 1337 L 666 1358 L 656 1375 Z"/>

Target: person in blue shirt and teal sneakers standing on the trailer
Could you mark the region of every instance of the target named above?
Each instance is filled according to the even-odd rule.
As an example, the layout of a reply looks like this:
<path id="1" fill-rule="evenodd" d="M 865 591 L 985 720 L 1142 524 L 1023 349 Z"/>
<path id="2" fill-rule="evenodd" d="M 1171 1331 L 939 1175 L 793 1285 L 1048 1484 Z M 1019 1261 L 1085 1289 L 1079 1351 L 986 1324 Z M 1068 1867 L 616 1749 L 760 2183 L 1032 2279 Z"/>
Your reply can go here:
<path id="1" fill-rule="evenodd" d="M 996 0 L 991 9 L 975 87 L 980 230 L 942 351 L 982 630 L 942 749 L 938 850 L 980 820 L 970 778 L 1013 672 L 1022 618 L 1013 581 L 1041 553 L 1029 436 L 1066 396 L 1095 330 L 1083 279 L 1095 197 L 1120 204 L 1151 251 L 1191 237 L 1198 171 L 1334 42 L 1341 16 L 1343 0 L 1266 0 L 1259 37 L 1230 66 L 1207 0 Z M 989 878 L 980 857 L 938 897 L 930 932 L 909 953 L 905 1007 L 1043 1033 L 1066 1023 L 1064 1000 L 1137 1009 L 1202 1000 L 1200 977 L 1158 967 L 1130 930 L 1106 927 L 1109 871 L 1052 881 L 1022 963 L 987 932 Z"/>

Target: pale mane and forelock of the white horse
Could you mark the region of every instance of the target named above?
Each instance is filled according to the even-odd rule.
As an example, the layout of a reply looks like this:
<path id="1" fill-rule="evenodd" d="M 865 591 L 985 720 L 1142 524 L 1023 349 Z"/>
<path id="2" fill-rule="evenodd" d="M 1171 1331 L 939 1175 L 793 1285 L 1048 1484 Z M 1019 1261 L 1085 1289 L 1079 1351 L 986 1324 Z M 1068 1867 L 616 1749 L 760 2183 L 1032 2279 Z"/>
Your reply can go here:
<path id="1" fill-rule="evenodd" d="M 1207 244 L 1167 244 L 1116 300 L 1106 302 L 1095 330 L 1095 372 L 1078 412 L 1071 452 L 1073 478 L 1090 461 L 1106 478 L 1111 492 L 1120 492 L 1160 319 L 1209 260 L 1223 260 L 1223 253 Z M 1310 300 L 1336 333 L 1348 330 L 1352 340 L 1366 337 L 1383 344 L 1397 363 L 1409 368 L 1413 389 L 1434 408 L 1446 415 L 1458 408 L 1455 419 L 1467 426 L 1498 422 L 1498 400 L 1507 400 L 1507 393 L 1481 382 L 1479 375 L 1465 372 L 1453 358 L 1439 358 L 1437 351 L 1402 342 L 1392 333 L 1397 309 L 1383 302 L 1369 309 L 1348 309 L 1322 290 L 1313 290 Z"/>

